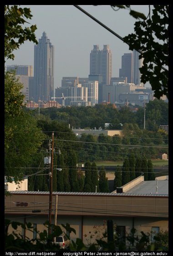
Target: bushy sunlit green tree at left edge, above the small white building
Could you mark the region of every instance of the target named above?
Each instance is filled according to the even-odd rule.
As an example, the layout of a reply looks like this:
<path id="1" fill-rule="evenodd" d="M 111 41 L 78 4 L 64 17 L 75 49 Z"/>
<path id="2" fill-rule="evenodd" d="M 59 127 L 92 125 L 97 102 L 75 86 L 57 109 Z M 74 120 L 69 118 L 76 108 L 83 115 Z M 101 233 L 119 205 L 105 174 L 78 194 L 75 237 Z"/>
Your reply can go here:
<path id="1" fill-rule="evenodd" d="M 23 179 L 25 168 L 31 166 L 45 135 L 37 127 L 36 118 L 29 113 L 15 118 L 8 116 L 5 119 L 6 123 L 9 127 L 13 127 L 13 136 L 8 143 L 8 148 L 5 148 L 5 176 L 9 182 L 11 177 L 18 182 Z"/>

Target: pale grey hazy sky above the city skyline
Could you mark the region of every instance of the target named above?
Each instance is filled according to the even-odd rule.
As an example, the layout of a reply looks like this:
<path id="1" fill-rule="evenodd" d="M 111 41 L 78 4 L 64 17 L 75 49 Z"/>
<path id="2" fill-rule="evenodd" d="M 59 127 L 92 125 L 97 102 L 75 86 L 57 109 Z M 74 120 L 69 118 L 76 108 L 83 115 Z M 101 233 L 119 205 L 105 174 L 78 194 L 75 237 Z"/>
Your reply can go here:
<path id="1" fill-rule="evenodd" d="M 110 5 L 78 5 L 109 27 L 121 37 L 134 33 L 134 23 L 137 21 L 128 10 L 114 11 Z M 37 26 L 35 31 L 37 41 L 43 31 L 55 46 L 55 78 L 56 87 L 61 87 L 62 77 L 88 77 L 90 72 L 90 53 L 93 45 L 109 45 L 112 51 L 112 77 L 119 77 L 122 65 L 122 55 L 132 52 L 127 44 L 114 36 L 110 31 L 92 20 L 74 5 L 20 5 L 31 9 L 31 25 Z M 131 5 L 148 15 L 148 5 Z M 25 24 L 27 26 L 27 24 Z M 20 49 L 14 51 L 15 59 L 7 60 L 6 65 L 34 66 L 34 43 L 26 41 Z M 148 87 L 148 84 L 146 84 Z"/>

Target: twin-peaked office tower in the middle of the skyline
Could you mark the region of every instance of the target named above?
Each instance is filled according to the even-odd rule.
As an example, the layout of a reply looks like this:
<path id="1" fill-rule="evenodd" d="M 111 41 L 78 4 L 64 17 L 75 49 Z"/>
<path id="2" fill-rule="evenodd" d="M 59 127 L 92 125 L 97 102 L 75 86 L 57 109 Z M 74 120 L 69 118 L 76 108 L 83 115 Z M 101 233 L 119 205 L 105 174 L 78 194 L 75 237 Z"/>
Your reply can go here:
<path id="1" fill-rule="evenodd" d="M 112 77 L 112 52 L 109 45 L 103 45 L 103 50 L 99 50 L 99 45 L 94 45 L 90 53 L 90 75 L 102 75 L 103 84 L 109 84 Z"/>

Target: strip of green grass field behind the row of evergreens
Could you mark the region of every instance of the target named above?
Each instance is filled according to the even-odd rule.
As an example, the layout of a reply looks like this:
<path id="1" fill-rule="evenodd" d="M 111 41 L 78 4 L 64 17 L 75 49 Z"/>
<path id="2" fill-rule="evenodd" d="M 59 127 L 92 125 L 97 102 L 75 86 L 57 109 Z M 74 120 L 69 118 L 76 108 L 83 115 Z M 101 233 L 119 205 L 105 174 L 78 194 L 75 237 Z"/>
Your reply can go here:
<path id="1" fill-rule="evenodd" d="M 168 166 L 168 160 L 155 159 L 152 160 L 153 166 Z M 78 166 L 85 165 L 85 163 L 79 163 Z M 104 161 L 104 162 L 96 162 L 97 166 L 122 166 L 123 162 L 113 162 L 113 161 Z"/>

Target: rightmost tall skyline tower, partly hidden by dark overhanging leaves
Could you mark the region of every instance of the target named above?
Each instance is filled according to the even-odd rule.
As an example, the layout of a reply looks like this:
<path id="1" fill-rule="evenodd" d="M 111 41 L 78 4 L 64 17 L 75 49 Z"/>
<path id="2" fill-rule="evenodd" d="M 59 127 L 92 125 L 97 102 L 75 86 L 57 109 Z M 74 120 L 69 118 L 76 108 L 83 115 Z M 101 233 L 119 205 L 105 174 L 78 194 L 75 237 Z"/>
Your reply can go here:
<path id="1" fill-rule="evenodd" d="M 133 83 L 136 85 L 141 84 L 143 86 L 143 83 L 141 83 L 141 73 L 139 71 L 139 68 L 143 65 L 143 58 L 139 60 L 140 53 L 136 50 L 133 50 Z"/>

